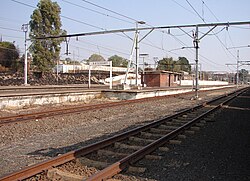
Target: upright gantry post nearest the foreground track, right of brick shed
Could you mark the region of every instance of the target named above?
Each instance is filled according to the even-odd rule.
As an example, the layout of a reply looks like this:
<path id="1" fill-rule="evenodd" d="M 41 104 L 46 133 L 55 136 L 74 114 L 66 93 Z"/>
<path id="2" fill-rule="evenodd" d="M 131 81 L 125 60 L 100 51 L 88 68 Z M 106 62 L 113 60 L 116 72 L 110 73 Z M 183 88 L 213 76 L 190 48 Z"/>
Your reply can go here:
<path id="1" fill-rule="evenodd" d="M 195 98 L 198 98 L 198 58 L 199 58 L 199 39 L 198 39 L 198 26 L 196 26 L 195 32 Z"/>

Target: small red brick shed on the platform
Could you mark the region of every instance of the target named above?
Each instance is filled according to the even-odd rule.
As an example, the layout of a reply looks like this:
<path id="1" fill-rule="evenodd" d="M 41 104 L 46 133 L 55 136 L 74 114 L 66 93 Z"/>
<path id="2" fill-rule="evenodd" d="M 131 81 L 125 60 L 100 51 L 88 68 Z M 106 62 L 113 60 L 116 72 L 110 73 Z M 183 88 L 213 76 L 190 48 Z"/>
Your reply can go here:
<path id="1" fill-rule="evenodd" d="M 181 73 L 170 71 L 145 71 L 142 75 L 141 83 L 147 87 L 174 87 L 177 86 L 177 81 L 180 80 Z"/>

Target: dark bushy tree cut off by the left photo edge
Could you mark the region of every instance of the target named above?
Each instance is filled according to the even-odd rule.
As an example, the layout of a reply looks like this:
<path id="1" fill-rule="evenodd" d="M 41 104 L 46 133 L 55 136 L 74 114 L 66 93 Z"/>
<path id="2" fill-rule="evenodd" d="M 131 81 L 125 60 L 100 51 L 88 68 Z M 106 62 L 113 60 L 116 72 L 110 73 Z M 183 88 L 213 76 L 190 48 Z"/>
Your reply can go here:
<path id="1" fill-rule="evenodd" d="M 0 64 L 6 68 L 15 69 L 19 51 L 11 42 L 0 42 Z"/>

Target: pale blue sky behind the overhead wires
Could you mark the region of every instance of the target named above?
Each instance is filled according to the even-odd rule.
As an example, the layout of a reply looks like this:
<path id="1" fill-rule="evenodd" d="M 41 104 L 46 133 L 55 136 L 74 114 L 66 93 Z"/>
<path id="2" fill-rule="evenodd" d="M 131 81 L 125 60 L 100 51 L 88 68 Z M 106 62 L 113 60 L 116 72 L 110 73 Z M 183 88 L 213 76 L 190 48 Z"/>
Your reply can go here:
<path id="1" fill-rule="evenodd" d="M 14 42 L 24 52 L 23 24 L 29 23 L 38 0 L 2 0 L 0 36 L 2 41 Z M 57 0 L 61 7 L 62 29 L 67 34 L 135 28 L 136 21 L 152 26 L 180 26 L 218 22 L 250 21 L 249 0 Z M 210 27 L 211 28 L 211 27 Z M 154 30 L 139 43 L 139 52 L 148 54 L 144 61 L 154 66 L 154 59 L 186 57 L 195 62 L 193 32 L 195 28 Z M 199 37 L 209 28 L 199 28 Z M 148 31 L 140 31 L 140 38 Z M 88 59 L 100 54 L 105 59 L 119 55 L 129 59 L 134 32 L 72 37 L 69 55 L 66 43 L 61 44 L 61 59 Z M 30 45 L 30 42 L 28 41 Z M 199 65 L 205 71 L 235 72 L 237 51 L 239 60 L 250 60 L 250 25 L 216 27 L 199 43 Z M 185 47 L 185 48 L 183 48 Z M 139 59 L 142 63 L 142 58 Z M 250 70 L 248 66 L 240 68 Z"/>

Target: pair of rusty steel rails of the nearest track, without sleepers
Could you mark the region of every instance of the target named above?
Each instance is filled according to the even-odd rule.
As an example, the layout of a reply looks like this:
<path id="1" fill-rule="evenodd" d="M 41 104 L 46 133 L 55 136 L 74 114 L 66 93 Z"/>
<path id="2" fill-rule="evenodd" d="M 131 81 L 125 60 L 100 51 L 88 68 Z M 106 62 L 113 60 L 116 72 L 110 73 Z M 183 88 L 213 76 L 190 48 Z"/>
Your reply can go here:
<path id="1" fill-rule="evenodd" d="M 124 168 L 126 168 L 128 165 L 130 165 L 131 163 L 136 162 L 137 160 L 143 158 L 146 154 L 151 153 L 153 150 L 155 150 L 157 147 L 163 145 L 164 143 L 166 143 L 169 139 L 175 137 L 177 134 L 179 134 L 180 132 L 182 132 L 185 129 L 188 129 L 188 127 L 190 127 L 191 125 L 193 125 L 195 122 L 197 122 L 198 120 L 200 120 L 201 118 L 205 117 L 207 114 L 209 114 L 210 112 L 215 111 L 216 109 L 220 108 L 223 104 L 225 104 L 226 102 L 232 100 L 234 97 L 238 96 L 239 94 L 241 94 L 243 91 L 245 91 L 245 89 L 240 90 L 239 93 L 237 93 L 236 95 L 230 97 L 229 99 L 223 101 L 222 103 L 220 103 L 218 106 L 212 108 L 211 110 L 201 114 L 200 116 L 198 116 L 197 118 L 194 118 L 193 120 L 187 122 L 186 124 L 182 125 L 181 127 L 179 127 L 178 129 L 166 134 L 164 137 L 155 140 L 154 142 L 150 143 L 149 145 L 147 145 L 146 147 L 137 150 L 136 152 L 134 152 L 133 154 L 121 159 L 120 161 L 110 165 L 109 167 L 101 170 L 100 172 L 96 173 L 95 175 L 93 175 L 92 177 L 90 177 L 88 180 L 102 180 L 102 179 L 106 179 L 106 178 L 110 178 L 113 175 L 119 173 L 120 171 L 122 171 Z M 233 95 L 235 94 L 235 92 L 230 93 L 229 95 Z M 216 99 L 213 99 L 209 102 L 207 102 L 207 104 L 212 103 L 214 101 L 217 101 L 221 98 L 224 98 L 228 95 L 224 95 L 224 96 L 220 96 L 217 97 Z M 161 118 L 157 121 L 154 121 L 152 123 L 149 123 L 145 126 L 141 126 L 139 128 L 135 128 L 133 130 L 121 133 L 119 135 L 113 136 L 111 138 L 105 139 L 103 141 L 99 141 L 97 143 L 91 144 L 89 146 L 83 147 L 81 149 L 75 150 L 75 151 L 71 151 L 68 152 L 66 154 L 57 156 L 53 159 L 50 159 L 48 161 L 44 161 L 38 164 L 35 164 L 33 166 L 29 166 L 26 167 L 20 171 L 14 172 L 12 174 L 3 176 L 2 178 L 0 178 L 1 181 L 12 181 L 12 180 L 22 180 L 22 179 L 26 179 L 29 178 L 31 176 L 34 176 L 36 174 L 42 173 L 45 170 L 48 170 L 50 168 L 59 166 L 61 164 L 64 164 L 66 162 L 69 162 L 71 160 L 76 159 L 77 157 L 86 155 L 88 153 L 91 153 L 93 151 L 96 151 L 98 149 L 104 148 L 108 145 L 111 145 L 117 141 L 123 140 L 125 138 L 127 138 L 128 136 L 132 136 L 135 135 L 139 132 L 142 132 L 144 130 L 147 130 L 151 127 L 157 126 L 162 124 L 163 122 L 166 122 L 168 120 L 171 120 L 173 118 L 176 118 L 180 115 L 183 115 L 185 113 L 188 113 L 190 111 L 196 110 L 198 108 L 204 107 L 206 104 L 200 104 L 197 105 L 191 109 L 186 109 L 183 110 L 177 114 L 165 117 L 165 118 Z"/>

